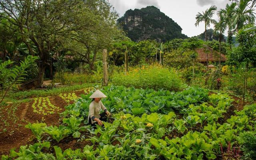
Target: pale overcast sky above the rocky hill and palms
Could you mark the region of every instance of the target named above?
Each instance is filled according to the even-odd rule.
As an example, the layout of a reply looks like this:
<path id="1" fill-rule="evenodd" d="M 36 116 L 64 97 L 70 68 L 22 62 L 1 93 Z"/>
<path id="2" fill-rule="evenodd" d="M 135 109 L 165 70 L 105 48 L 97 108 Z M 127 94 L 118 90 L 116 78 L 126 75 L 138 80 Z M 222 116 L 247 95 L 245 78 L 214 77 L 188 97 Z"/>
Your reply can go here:
<path id="1" fill-rule="evenodd" d="M 204 23 L 201 22 L 198 27 L 196 22 L 196 14 L 202 13 L 212 5 L 216 5 L 218 10 L 225 8 L 228 0 L 109 0 L 110 4 L 122 17 L 126 10 L 135 8 L 144 8 L 146 6 L 156 6 L 166 16 L 172 18 L 182 28 L 182 33 L 187 36 L 197 36 L 204 32 Z M 218 20 L 217 15 L 214 16 Z M 213 26 L 211 26 L 213 28 Z M 225 32 L 227 35 L 227 32 Z"/>

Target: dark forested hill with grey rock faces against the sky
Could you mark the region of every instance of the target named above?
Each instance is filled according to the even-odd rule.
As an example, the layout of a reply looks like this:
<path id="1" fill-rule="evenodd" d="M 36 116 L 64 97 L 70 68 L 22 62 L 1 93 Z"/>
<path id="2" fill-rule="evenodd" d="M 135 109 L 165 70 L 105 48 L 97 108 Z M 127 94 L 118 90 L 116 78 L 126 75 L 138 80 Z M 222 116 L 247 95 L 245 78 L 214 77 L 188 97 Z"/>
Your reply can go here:
<path id="1" fill-rule="evenodd" d="M 182 34 L 182 28 L 164 13 L 154 6 L 146 8 L 127 10 L 117 20 L 127 36 L 133 41 L 157 40 L 166 42 L 174 38 L 188 38 Z"/>

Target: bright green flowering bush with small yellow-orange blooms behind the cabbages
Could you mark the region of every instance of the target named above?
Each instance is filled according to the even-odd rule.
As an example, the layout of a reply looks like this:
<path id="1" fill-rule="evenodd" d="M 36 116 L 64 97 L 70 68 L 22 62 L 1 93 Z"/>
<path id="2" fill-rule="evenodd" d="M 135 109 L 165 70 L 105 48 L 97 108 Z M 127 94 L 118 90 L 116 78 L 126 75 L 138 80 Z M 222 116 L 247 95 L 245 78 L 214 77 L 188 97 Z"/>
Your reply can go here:
<path id="1" fill-rule="evenodd" d="M 159 65 L 142 66 L 124 73 L 113 74 L 112 83 L 116 85 L 134 86 L 135 88 L 164 88 L 167 90 L 181 90 L 182 80 L 173 70 Z"/>

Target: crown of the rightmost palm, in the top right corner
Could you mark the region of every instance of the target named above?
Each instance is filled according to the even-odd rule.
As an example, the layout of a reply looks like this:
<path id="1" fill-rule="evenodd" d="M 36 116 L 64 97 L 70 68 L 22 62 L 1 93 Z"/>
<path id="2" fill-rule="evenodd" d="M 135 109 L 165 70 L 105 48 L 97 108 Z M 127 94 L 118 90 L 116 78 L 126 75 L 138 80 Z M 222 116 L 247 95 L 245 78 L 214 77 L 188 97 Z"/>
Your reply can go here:
<path id="1" fill-rule="evenodd" d="M 253 24 L 255 22 L 254 9 L 250 7 L 251 0 L 240 0 L 234 10 L 233 21 L 238 32 L 246 24 Z"/>

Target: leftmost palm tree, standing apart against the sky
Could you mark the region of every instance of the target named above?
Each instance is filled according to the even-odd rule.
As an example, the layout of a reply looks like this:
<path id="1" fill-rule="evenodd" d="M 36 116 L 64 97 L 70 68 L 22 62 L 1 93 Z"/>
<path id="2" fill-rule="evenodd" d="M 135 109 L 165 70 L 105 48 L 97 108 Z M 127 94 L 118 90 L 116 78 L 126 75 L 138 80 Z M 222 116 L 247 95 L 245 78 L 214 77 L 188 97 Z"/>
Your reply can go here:
<path id="1" fill-rule="evenodd" d="M 196 23 L 195 26 L 199 26 L 200 22 L 204 22 L 204 38 L 206 39 L 206 29 L 207 27 L 210 27 L 210 24 L 214 24 L 216 21 L 212 19 L 212 16 L 214 14 L 214 11 L 217 10 L 217 7 L 215 5 L 211 6 L 209 9 L 206 9 L 205 12 L 201 14 L 198 12 L 196 14 Z M 208 54 L 206 54 L 206 71 L 208 71 Z"/>

